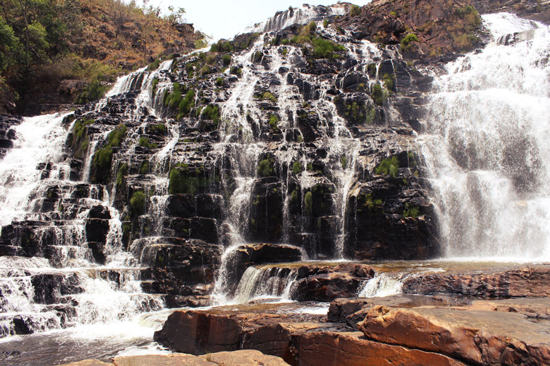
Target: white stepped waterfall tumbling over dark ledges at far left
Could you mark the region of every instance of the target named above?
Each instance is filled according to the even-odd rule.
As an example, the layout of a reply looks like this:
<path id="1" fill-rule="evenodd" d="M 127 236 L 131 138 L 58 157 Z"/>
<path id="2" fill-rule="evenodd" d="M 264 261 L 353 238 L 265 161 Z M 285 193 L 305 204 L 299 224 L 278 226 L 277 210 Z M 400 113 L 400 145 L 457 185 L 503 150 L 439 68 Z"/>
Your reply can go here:
<path id="1" fill-rule="evenodd" d="M 164 87 L 163 74 L 171 62 L 162 62 L 156 71 L 140 69 L 120 77 L 91 113 L 129 91 L 138 93 L 124 111 L 126 117 L 133 121 L 144 109 L 154 111 L 150 96 L 153 80 L 158 78 L 159 86 Z M 0 161 L 2 234 L 16 240 L 14 244 L 19 243 L 3 243 L 0 248 L 0 338 L 86 324 L 112 324 L 164 308 L 160 295 L 143 292 L 138 258 L 122 247 L 120 212 L 111 205 L 108 187 L 88 182 L 94 152 L 110 130 L 94 134 L 90 141 L 83 181 L 70 181 L 71 168 L 63 146 L 74 124 L 67 126 L 66 116 L 56 113 L 24 118 L 13 127 L 17 133 L 14 148 Z M 179 129 L 172 129 L 169 147 L 153 161 L 157 165 L 166 165 L 166 155 L 175 146 L 173 140 L 177 141 Z M 156 169 L 166 172 L 166 168 Z M 164 194 L 164 201 L 163 196 L 156 200 L 159 205 L 166 201 L 166 182 L 157 183 L 156 194 Z M 55 206 L 48 200 L 55 200 Z M 104 207 L 106 211 L 101 215 L 108 218 L 101 249 L 104 265 L 96 261 L 95 244 L 87 242 L 87 231 L 96 230 L 87 229 L 86 224 L 95 207 Z M 23 248 L 25 240 L 34 247 Z M 37 253 L 23 253 L 35 248 Z M 23 254 L 33 257 L 23 258 Z"/>

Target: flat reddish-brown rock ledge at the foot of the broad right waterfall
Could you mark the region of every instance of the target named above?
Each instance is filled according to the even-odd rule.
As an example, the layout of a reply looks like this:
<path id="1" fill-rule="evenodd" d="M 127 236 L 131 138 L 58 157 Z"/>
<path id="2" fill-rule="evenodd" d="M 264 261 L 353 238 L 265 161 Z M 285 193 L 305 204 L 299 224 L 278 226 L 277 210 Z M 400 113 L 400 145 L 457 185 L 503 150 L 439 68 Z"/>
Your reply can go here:
<path id="1" fill-rule="evenodd" d="M 550 264 L 532 264 L 483 271 L 449 271 L 410 277 L 404 293 L 457 294 L 473 297 L 550 296 Z"/>

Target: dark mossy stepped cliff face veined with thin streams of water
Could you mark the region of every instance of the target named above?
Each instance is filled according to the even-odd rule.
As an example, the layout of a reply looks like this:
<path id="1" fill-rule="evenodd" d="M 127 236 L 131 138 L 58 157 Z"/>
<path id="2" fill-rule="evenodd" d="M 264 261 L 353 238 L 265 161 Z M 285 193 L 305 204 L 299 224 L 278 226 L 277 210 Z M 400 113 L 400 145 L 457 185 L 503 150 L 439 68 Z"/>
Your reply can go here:
<path id="1" fill-rule="evenodd" d="M 36 167 L 40 183 L 28 212 L 3 226 L 0 255 L 99 268 L 119 290 L 131 273 L 143 310 L 223 299 L 254 264 L 434 258 L 416 133 L 439 54 L 481 45 L 478 14 L 467 1 L 344 9 L 280 13 L 296 23 L 273 19 L 265 33 L 157 62 L 59 117 L 52 135 L 65 142 Z M 297 296 L 316 301 L 373 276 L 327 268 L 268 274 L 298 276 Z M 63 326 L 87 291 L 70 271 L 32 281 L 36 303 L 63 301 Z"/>

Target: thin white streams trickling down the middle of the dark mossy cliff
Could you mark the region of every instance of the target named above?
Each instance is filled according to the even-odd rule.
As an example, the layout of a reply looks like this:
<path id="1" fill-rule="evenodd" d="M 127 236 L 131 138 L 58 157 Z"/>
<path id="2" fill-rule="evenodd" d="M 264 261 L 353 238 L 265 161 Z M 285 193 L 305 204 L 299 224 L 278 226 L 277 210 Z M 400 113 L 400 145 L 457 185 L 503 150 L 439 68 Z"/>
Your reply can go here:
<path id="1" fill-rule="evenodd" d="M 333 13 L 340 12 L 340 8 L 329 8 L 328 10 L 320 7 L 305 8 L 305 13 L 294 12 L 293 16 L 299 16 L 298 23 L 308 23 L 312 20 L 322 20 L 324 16 L 331 16 Z M 336 12 L 336 13 L 335 13 Z M 278 18 L 272 19 L 266 25 L 259 25 L 258 30 L 267 27 L 267 30 L 281 30 L 281 27 L 287 26 L 285 16 L 290 14 L 278 14 Z M 300 15 L 301 14 L 301 15 Z M 284 18 L 284 19 L 283 19 Z M 270 28 L 270 24 L 278 24 L 275 28 Z M 291 23 L 296 23 L 293 19 Z M 318 27 L 321 29 L 322 21 L 318 22 Z M 325 29 L 327 36 L 340 41 L 349 50 L 351 58 L 357 61 L 351 71 L 364 73 L 366 66 L 374 59 L 379 59 L 382 56 L 381 52 L 375 45 L 368 41 L 358 43 L 349 42 L 349 38 L 340 36 L 336 30 Z M 333 80 L 320 80 L 314 75 L 301 74 L 299 65 L 296 65 L 298 60 L 304 58 L 302 50 L 294 45 L 285 47 L 285 52 L 281 53 L 279 47 L 269 47 L 265 45 L 265 40 L 274 36 L 266 33 L 260 36 L 259 41 L 246 52 L 239 56 L 234 55 L 232 62 L 234 65 L 242 65 L 242 76 L 238 82 L 232 85 L 229 92 L 228 100 L 223 103 L 221 124 L 219 127 L 221 142 L 216 145 L 215 154 L 217 161 L 223 161 L 221 158 L 229 159 L 230 169 L 232 170 L 232 179 L 230 183 L 234 184 L 234 190 L 230 196 L 228 207 L 226 208 L 225 216 L 228 218 L 225 221 L 226 231 L 229 231 L 230 244 L 225 249 L 221 259 L 221 269 L 217 275 L 217 281 L 214 289 L 214 302 L 217 304 L 225 304 L 228 301 L 245 301 L 250 296 L 258 295 L 255 290 L 252 290 L 262 276 L 252 276 L 248 273 L 247 277 L 243 277 L 239 289 L 234 299 L 228 299 L 228 271 L 231 271 L 232 260 L 234 254 L 239 250 L 239 246 L 246 244 L 246 240 L 250 237 L 250 222 L 254 222 L 256 218 L 250 217 L 252 205 L 258 203 L 258 197 L 253 197 L 253 190 L 259 183 L 258 168 L 261 154 L 265 148 L 272 148 L 269 143 L 259 142 L 256 133 L 259 129 L 257 125 L 258 119 L 265 119 L 266 113 L 263 111 L 264 106 L 259 108 L 258 99 L 271 98 L 276 100 L 277 111 L 276 118 L 272 118 L 274 114 L 267 113 L 267 119 L 270 120 L 270 127 L 274 133 L 281 132 L 285 144 L 284 148 L 274 150 L 276 157 L 276 171 L 280 174 L 285 174 L 285 179 L 281 181 L 283 189 L 283 222 L 281 238 L 283 242 L 292 242 L 291 227 L 298 227 L 302 237 L 314 237 L 317 234 L 308 233 L 307 227 L 322 225 L 320 218 L 311 225 L 311 212 L 309 215 L 303 216 L 301 222 L 291 222 L 289 214 L 290 201 L 296 199 L 298 194 L 296 190 L 300 190 L 302 211 L 311 210 L 311 191 L 317 189 L 317 185 L 325 185 L 327 188 L 327 196 L 330 197 L 331 208 L 325 220 L 329 227 L 329 236 L 333 237 L 331 249 L 329 251 L 332 258 L 343 259 L 344 257 L 344 242 L 346 240 L 346 219 L 347 219 L 347 201 L 351 186 L 355 182 L 355 175 L 358 170 L 358 152 L 360 150 L 360 139 L 353 136 L 347 128 L 347 122 L 340 117 L 336 105 L 333 102 L 333 96 L 330 94 L 334 87 Z M 261 54 L 260 60 L 254 61 L 254 58 Z M 307 98 L 307 102 L 303 104 L 300 101 L 303 91 L 294 84 L 292 78 L 299 75 L 301 82 L 315 85 L 318 89 L 318 95 L 315 98 Z M 372 81 L 373 84 L 375 81 Z M 269 93 L 265 93 L 265 85 L 269 84 Z M 259 90 L 261 92 L 259 92 Z M 262 91 L 263 90 L 263 91 Z M 259 93 L 259 94 L 258 94 Z M 263 95 L 262 95 L 263 93 Z M 265 96 L 267 95 L 267 97 Z M 270 108 L 266 106 L 265 108 Z M 327 154 L 323 157 L 307 155 L 304 151 L 303 136 L 296 139 L 296 133 L 301 135 L 298 128 L 297 119 L 300 113 L 304 113 L 303 108 L 308 108 L 311 115 L 316 115 L 319 119 L 318 133 L 320 134 L 319 141 L 322 141 L 322 148 L 326 149 Z M 294 136 L 294 137 L 293 137 Z M 270 157 L 266 157 L 266 163 L 270 161 Z M 311 159 L 320 159 L 323 165 L 330 167 L 331 179 L 320 179 L 318 173 L 311 170 Z M 259 169 L 259 168 L 258 168 Z M 294 189 L 292 183 L 293 175 L 298 174 L 299 186 Z M 225 184 L 228 186 L 229 184 Z M 325 188 L 323 188 L 325 189 Z M 326 199 L 326 198 L 325 198 Z M 308 201 L 309 200 L 309 201 Z M 308 208 L 309 207 L 309 208 Z M 259 213 L 263 214 L 263 213 Z M 267 216 L 267 213 L 266 213 Z M 296 230 L 296 229 L 294 229 Z M 318 239 L 312 239 L 315 242 Z M 316 258 L 320 253 L 316 250 L 319 244 L 313 244 L 306 249 L 306 257 Z M 250 269 L 252 271 L 252 269 Z M 252 279 L 254 277 L 254 280 Z M 265 276 L 263 276 L 265 277 Z M 263 278 L 262 277 L 262 278 Z M 272 280 L 274 277 L 267 275 L 265 280 Z M 250 283 L 243 284 L 242 281 Z M 256 284 L 254 284 L 256 283 Z M 252 293 L 248 293 L 250 291 Z M 242 293 L 248 295 L 242 295 Z"/>

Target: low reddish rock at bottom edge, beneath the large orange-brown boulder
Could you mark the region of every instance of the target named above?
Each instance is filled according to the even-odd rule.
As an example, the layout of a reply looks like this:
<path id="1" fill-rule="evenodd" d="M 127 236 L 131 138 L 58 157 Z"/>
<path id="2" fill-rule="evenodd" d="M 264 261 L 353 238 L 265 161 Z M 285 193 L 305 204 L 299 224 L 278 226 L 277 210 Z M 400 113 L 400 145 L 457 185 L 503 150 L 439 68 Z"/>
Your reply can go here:
<path id="1" fill-rule="evenodd" d="M 293 337 L 300 366 L 462 366 L 448 356 L 369 341 L 361 332 L 307 332 Z"/>

